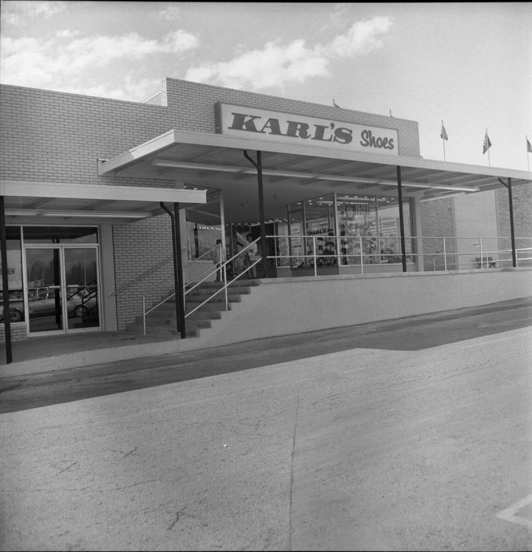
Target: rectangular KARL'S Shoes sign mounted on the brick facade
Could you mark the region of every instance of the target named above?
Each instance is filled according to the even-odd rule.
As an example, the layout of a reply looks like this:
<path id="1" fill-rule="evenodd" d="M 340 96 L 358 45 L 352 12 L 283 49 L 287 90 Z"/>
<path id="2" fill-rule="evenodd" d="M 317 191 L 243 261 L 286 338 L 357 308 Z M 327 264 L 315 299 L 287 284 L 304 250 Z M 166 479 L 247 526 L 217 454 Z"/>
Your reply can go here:
<path id="1" fill-rule="evenodd" d="M 394 128 L 316 119 L 221 102 L 214 105 L 214 113 L 216 132 L 234 138 L 398 155 L 398 132 Z"/>

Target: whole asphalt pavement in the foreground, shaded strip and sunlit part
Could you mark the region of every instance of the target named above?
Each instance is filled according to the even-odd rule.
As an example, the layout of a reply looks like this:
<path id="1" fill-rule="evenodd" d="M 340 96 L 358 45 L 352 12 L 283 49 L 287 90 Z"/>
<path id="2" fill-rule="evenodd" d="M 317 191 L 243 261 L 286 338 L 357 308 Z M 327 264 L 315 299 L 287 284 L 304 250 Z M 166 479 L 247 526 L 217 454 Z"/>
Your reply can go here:
<path id="1" fill-rule="evenodd" d="M 531 550 L 529 302 L 2 378 L 2 550 Z"/>

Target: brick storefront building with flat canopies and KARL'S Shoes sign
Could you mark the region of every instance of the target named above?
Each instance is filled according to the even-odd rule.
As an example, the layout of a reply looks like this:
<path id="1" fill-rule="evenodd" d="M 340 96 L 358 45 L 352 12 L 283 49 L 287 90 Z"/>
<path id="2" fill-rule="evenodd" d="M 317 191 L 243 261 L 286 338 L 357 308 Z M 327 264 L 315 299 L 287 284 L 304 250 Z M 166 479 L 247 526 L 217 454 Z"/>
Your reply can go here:
<path id="1" fill-rule="evenodd" d="M 145 103 L 1 86 L 0 109 L 10 339 L 125 330 L 175 239 L 185 282 L 236 230 L 262 278 L 532 257 L 531 173 L 424 160 L 416 121 L 176 79 Z"/>

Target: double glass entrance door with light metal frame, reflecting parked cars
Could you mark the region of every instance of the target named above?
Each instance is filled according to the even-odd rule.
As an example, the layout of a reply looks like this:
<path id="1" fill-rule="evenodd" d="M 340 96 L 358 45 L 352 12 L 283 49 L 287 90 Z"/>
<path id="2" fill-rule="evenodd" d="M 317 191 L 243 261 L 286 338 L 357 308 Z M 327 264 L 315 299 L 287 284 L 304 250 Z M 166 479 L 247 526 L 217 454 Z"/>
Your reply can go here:
<path id="1" fill-rule="evenodd" d="M 98 273 L 94 246 L 26 247 L 28 333 L 99 328 Z"/>

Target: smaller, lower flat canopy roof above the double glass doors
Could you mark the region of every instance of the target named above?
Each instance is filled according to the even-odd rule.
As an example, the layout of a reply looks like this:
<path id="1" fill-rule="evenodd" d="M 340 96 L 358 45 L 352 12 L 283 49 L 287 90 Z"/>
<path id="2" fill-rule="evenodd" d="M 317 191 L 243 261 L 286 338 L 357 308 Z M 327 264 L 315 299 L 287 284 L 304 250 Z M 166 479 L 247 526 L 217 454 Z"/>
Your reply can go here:
<path id="1" fill-rule="evenodd" d="M 125 224 L 163 213 L 160 201 L 205 204 L 205 190 L 0 181 L 8 224 Z"/>

